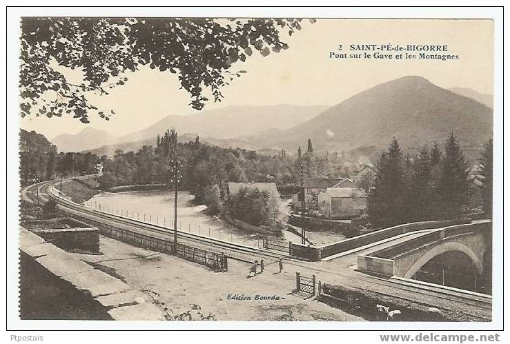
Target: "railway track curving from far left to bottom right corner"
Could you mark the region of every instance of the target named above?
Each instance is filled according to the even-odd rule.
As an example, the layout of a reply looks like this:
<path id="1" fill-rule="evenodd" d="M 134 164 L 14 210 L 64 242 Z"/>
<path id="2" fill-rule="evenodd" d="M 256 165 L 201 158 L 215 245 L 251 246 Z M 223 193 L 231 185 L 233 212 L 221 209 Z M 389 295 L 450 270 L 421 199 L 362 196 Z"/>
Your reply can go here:
<path id="1" fill-rule="evenodd" d="M 66 179 L 65 181 L 69 181 Z M 50 198 L 58 200 L 58 208 L 62 212 L 70 216 L 80 216 L 82 218 L 99 221 L 105 224 L 113 224 L 121 227 L 128 227 L 129 230 L 141 232 L 142 234 L 153 235 L 159 238 L 173 240 L 174 230 L 169 227 L 155 225 L 153 223 L 146 223 L 135 219 L 129 219 L 124 216 L 102 212 L 100 210 L 92 210 L 85 205 L 79 205 L 72 201 L 59 196 L 54 192 L 53 186 L 59 183 L 59 180 L 44 181 L 38 185 L 30 185 L 21 190 L 21 197 L 27 201 L 33 201 L 28 196 L 29 193 L 34 194 L 35 188 L 39 189 L 39 199 L 44 202 Z M 411 281 L 402 281 L 397 279 L 389 279 L 388 277 L 381 277 L 369 274 L 362 274 L 354 272 L 349 269 L 341 271 L 327 269 L 320 267 L 319 263 L 312 263 L 298 259 L 297 257 L 288 254 L 262 250 L 257 247 L 250 247 L 221 241 L 218 239 L 201 236 L 190 232 L 182 232 L 177 230 L 177 240 L 186 245 L 199 247 L 214 252 L 224 252 L 228 257 L 244 262 L 252 262 L 255 257 L 264 259 L 273 259 L 285 261 L 286 265 L 293 265 L 295 267 L 304 267 L 306 269 L 315 270 L 317 273 L 324 272 L 326 274 L 333 274 L 342 278 L 342 285 L 352 287 L 357 290 L 364 290 L 367 292 L 376 292 L 384 296 L 391 296 L 404 301 L 428 305 L 430 307 L 440 307 L 444 310 L 451 310 L 458 312 L 459 310 L 469 316 L 479 318 L 482 321 L 491 320 L 492 298 L 491 296 L 483 296 L 481 294 L 467 294 L 462 291 L 447 290 L 441 286 L 434 287 L 431 285 L 420 285 Z M 327 282 L 326 282 L 327 283 Z M 357 285 L 358 284 L 358 285 Z M 369 284 L 371 288 L 361 287 L 360 285 Z M 373 286 L 373 287 L 372 287 Z M 391 288 L 391 293 L 382 292 L 382 288 Z M 424 296 L 428 301 L 422 302 L 417 299 L 410 299 L 409 293 L 419 294 Z M 455 304 L 455 307 L 452 306 Z M 461 308 L 461 309 L 460 309 Z M 473 312 L 473 310 L 475 312 Z"/>

